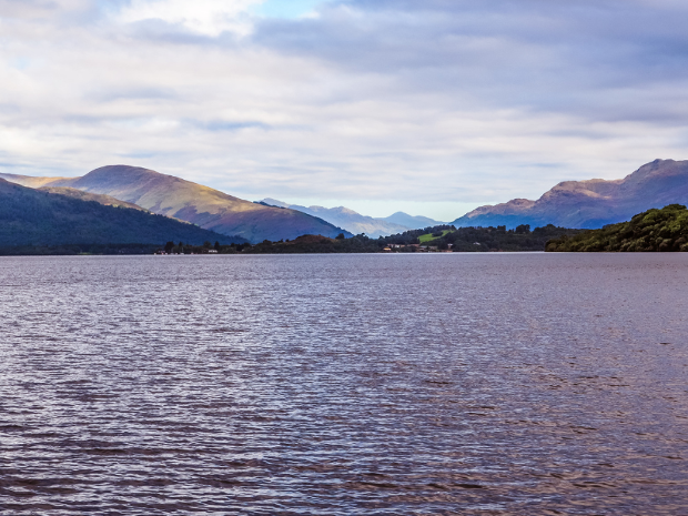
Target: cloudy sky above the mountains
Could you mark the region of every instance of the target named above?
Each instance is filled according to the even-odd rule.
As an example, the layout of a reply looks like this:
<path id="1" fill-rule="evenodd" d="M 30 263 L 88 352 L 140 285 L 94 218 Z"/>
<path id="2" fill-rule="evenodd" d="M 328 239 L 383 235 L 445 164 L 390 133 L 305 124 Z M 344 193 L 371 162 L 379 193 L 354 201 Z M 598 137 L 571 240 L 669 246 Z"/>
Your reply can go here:
<path id="1" fill-rule="evenodd" d="M 451 221 L 688 159 L 685 0 L 0 0 L 0 172 Z"/>

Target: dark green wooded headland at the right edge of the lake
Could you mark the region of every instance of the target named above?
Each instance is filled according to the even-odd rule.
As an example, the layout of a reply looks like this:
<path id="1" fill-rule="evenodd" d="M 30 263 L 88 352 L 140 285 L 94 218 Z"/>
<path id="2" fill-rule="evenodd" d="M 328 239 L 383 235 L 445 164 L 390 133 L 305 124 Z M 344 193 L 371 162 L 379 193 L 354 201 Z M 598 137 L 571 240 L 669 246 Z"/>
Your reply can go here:
<path id="1" fill-rule="evenodd" d="M 638 213 L 628 222 L 561 235 L 547 243 L 547 251 L 633 252 L 688 251 L 688 210 L 669 204 L 661 210 Z"/>

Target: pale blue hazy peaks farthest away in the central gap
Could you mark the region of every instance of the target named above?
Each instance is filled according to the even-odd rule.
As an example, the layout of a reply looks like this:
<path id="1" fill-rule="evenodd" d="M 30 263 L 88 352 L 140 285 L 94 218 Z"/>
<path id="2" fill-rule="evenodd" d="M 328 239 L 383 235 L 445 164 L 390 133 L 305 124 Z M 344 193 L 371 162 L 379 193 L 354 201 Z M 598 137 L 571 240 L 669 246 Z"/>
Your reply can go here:
<path id="1" fill-rule="evenodd" d="M 287 204 L 276 199 L 266 198 L 260 201 L 261 204 L 289 208 L 291 210 L 299 210 L 300 212 L 307 213 L 313 216 L 321 217 L 331 224 L 344 227 L 354 234 L 365 233 L 366 235 L 377 239 L 378 236 L 387 236 L 395 233 L 403 233 L 407 230 L 415 230 L 418 227 L 427 227 L 431 225 L 438 225 L 442 222 L 433 221 L 425 216 L 412 216 L 403 212 L 397 212 L 394 215 L 385 219 L 372 217 L 362 215 L 348 208 L 323 208 L 323 206 L 301 206 L 299 204 Z M 408 224 L 403 224 L 399 221 L 406 221 Z"/>

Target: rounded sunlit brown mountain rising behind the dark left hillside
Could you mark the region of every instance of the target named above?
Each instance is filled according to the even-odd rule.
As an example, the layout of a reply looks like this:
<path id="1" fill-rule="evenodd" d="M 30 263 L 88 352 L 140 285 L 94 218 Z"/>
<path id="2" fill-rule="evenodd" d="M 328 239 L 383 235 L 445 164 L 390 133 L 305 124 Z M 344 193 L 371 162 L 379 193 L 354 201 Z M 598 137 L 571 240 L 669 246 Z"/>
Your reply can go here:
<path id="1" fill-rule="evenodd" d="M 152 211 L 188 221 L 226 235 L 251 242 L 293 240 L 303 234 L 351 236 L 321 219 L 295 210 L 281 210 L 227 195 L 226 193 L 138 166 L 111 165 L 95 169 L 82 178 L 31 178 L 0 174 L 27 186 L 67 186 L 110 195 Z"/>

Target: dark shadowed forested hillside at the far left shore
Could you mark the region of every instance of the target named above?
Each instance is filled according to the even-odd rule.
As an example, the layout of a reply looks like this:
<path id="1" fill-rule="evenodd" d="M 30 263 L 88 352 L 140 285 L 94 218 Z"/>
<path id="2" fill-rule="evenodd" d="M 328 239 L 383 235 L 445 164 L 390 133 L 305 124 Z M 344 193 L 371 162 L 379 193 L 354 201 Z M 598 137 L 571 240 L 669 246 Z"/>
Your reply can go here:
<path id="1" fill-rule="evenodd" d="M 34 190 L 0 179 L 0 247 L 62 244 L 243 243 L 193 224 L 130 208 Z"/>

